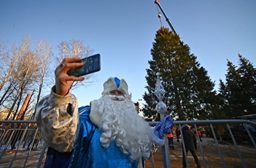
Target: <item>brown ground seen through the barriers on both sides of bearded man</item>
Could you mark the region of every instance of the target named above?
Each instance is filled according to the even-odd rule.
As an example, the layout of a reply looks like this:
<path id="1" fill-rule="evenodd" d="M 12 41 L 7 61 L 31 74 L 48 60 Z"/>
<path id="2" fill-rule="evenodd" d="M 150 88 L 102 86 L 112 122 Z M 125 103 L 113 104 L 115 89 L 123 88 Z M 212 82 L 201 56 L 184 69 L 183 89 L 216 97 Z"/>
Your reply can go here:
<path id="1" fill-rule="evenodd" d="M 171 159 L 171 168 L 182 168 L 182 146 L 181 142 L 176 142 L 174 139 L 175 150 L 169 149 L 170 159 Z M 203 138 L 201 142 L 202 151 L 204 154 L 204 158 L 206 160 L 207 168 L 223 168 L 222 160 L 220 158 L 220 154 L 217 150 L 216 144 L 214 139 L 212 138 Z M 250 144 L 243 144 L 238 146 L 239 151 L 245 161 L 247 168 L 256 168 L 256 149 L 254 146 Z M 40 148 L 41 149 L 41 148 Z M 241 163 L 241 159 L 239 154 L 237 153 L 234 144 L 226 143 L 220 144 L 220 150 L 223 155 L 223 159 L 226 164 L 226 168 L 243 168 L 244 166 Z M 12 168 L 21 168 L 25 163 L 25 158 L 28 155 L 28 150 L 21 149 L 17 153 L 16 159 L 12 164 Z M 0 168 L 8 168 L 14 157 L 15 152 L 11 154 L 4 154 L 3 158 L 0 160 Z M 26 168 L 36 168 L 39 160 L 39 156 L 41 151 L 31 151 L 29 155 L 29 159 L 26 163 Z M 200 148 L 198 146 L 197 150 L 198 158 L 201 161 L 202 168 L 205 168 L 203 162 L 203 155 L 201 154 Z M 163 168 L 162 163 L 162 149 L 159 148 L 156 153 L 153 155 L 154 160 L 154 168 Z M 147 160 L 145 167 L 146 168 L 153 168 L 151 164 L 151 160 Z M 196 168 L 195 162 L 193 160 L 192 155 L 188 152 L 188 162 L 190 168 Z M 43 165 L 43 163 L 42 163 Z M 41 167 L 42 167 L 41 165 Z"/>

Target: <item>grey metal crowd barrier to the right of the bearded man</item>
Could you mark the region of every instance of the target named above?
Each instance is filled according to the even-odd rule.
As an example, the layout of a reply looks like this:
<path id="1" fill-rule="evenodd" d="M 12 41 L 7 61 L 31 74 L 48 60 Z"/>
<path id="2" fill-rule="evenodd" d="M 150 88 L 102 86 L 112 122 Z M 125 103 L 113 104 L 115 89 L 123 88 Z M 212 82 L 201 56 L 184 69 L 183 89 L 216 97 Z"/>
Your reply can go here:
<path id="1" fill-rule="evenodd" d="M 150 125 L 155 125 L 157 122 L 149 122 Z M 198 153 L 198 157 L 200 155 L 201 167 L 204 168 L 229 168 L 229 167 L 237 167 L 237 168 L 254 168 L 256 167 L 256 123 L 248 120 L 201 120 L 201 121 L 175 121 L 174 125 L 187 124 L 195 128 L 195 132 L 197 135 L 197 143 L 200 149 L 200 153 Z M 209 140 L 213 140 L 209 145 L 204 145 L 201 143 L 200 138 L 198 136 L 197 127 L 204 127 L 208 129 Z M 231 128 L 238 128 L 239 131 L 232 131 Z M 225 131 L 226 130 L 226 131 Z M 181 131 L 182 132 L 182 131 Z M 239 144 L 237 145 L 237 140 L 244 138 L 244 143 L 247 141 L 247 144 Z M 182 139 L 182 137 L 181 137 Z M 206 138 L 204 139 L 206 140 Z M 242 142 L 242 141 L 239 141 Z M 184 142 L 182 139 L 182 146 L 184 147 Z M 208 153 L 204 153 L 207 146 L 212 147 L 212 151 L 208 151 Z M 254 146 L 254 147 L 253 147 Z M 241 150 L 242 149 L 242 150 Z M 217 152 L 214 153 L 214 150 Z M 246 151 L 247 150 L 247 151 Z M 230 152 L 229 152 L 230 151 Z M 249 153 L 246 155 L 246 158 L 243 157 L 245 152 Z M 214 153 L 214 154 L 213 154 Z M 223 154 L 225 153 L 225 155 Z M 216 155 L 218 154 L 218 156 Z M 211 157 L 212 156 L 212 157 Z M 246 161 L 245 161 L 246 159 Z M 187 163 L 187 168 L 190 167 L 190 162 L 194 163 L 192 158 L 185 156 L 185 160 Z M 179 161 L 180 165 L 182 165 L 182 160 Z M 151 157 L 152 167 L 154 168 L 154 155 Z M 171 165 L 174 162 L 171 160 Z M 182 167 L 182 166 L 179 166 Z"/>

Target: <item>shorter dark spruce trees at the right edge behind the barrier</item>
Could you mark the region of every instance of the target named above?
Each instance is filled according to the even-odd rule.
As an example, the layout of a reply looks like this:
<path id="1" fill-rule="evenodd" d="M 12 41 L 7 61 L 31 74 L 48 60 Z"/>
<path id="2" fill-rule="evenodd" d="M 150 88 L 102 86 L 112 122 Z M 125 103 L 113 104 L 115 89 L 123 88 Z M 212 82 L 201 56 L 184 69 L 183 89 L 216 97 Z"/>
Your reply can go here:
<path id="1" fill-rule="evenodd" d="M 221 81 L 219 95 L 228 119 L 256 114 L 256 69 L 238 54 L 239 67 L 228 61 L 226 83 Z"/>

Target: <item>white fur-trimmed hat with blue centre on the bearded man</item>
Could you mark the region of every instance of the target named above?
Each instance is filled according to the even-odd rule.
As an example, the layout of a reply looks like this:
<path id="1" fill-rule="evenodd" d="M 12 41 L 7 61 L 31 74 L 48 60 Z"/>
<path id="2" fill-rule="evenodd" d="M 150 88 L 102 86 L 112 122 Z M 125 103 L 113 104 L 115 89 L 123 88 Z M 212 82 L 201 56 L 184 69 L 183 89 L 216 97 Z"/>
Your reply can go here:
<path id="1" fill-rule="evenodd" d="M 118 90 L 125 95 L 128 94 L 128 85 L 124 79 L 118 79 L 116 77 L 110 77 L 103 84 L 104 91 L 110 92 L 112 90 Z"/>

